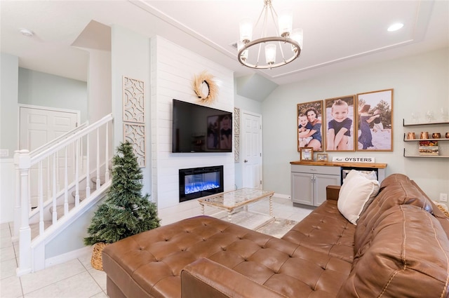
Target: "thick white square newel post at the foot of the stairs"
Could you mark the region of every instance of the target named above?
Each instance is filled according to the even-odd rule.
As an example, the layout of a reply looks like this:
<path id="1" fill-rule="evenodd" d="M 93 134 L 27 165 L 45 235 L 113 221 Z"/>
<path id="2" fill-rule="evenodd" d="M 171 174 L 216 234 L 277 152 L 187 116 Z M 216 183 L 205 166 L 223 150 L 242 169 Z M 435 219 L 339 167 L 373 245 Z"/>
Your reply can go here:
<path id="1" fill-rule="evenodd" d="M 20 184 L 20 262 L 19 268 L 16 271 L 18 276 L 32 271 L 31 228 L 29 227 L 29 168 L 31 168 L 31 156 L 29 156 L 29 151 L 18 151 Z"/>

